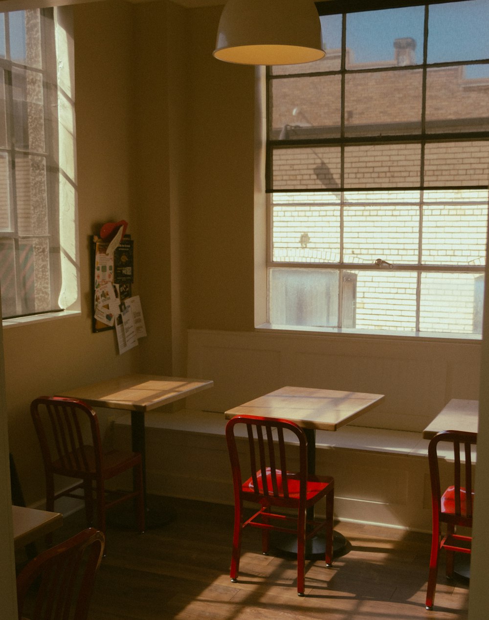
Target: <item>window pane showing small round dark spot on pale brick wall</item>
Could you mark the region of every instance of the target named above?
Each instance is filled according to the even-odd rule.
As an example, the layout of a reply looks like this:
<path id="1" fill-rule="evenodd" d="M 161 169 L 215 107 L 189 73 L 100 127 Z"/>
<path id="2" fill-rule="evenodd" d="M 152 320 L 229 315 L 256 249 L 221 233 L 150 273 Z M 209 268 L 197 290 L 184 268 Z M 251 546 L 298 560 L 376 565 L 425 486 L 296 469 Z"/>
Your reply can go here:
<path id="1" fill-rule="evenodd" d="M 340 261 L 338 202 L 275 204 L 272 217 L 272 260 L 301 263 Z"/>

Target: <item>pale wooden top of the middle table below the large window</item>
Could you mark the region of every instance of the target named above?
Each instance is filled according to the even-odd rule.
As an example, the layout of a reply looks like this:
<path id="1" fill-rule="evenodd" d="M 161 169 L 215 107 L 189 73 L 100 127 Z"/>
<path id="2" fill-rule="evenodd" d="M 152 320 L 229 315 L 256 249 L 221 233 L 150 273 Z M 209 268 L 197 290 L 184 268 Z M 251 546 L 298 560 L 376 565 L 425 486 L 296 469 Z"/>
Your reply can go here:
<path id="1" fill-rule="evenodd" d="M 304 428 L 335 431 L 383 399 L 383 394 L 287 386 L 229 409 L 224 415 L 226 418 L 240 414 L 285 418 Z"/>

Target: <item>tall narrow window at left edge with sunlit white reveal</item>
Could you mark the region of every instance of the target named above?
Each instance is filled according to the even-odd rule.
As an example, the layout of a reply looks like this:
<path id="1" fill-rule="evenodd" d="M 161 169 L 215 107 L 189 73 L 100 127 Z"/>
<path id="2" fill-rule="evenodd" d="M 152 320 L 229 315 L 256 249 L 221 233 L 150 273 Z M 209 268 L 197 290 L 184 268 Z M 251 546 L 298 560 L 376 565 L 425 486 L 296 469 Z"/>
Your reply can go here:
<path id="1" fill-rule="evenodd" d="M 69 267 L 76 254 L 76 204 L 66 15 L 53 9 L 0 13 L 4 318 L 64 309 L 77 297 Z"/>

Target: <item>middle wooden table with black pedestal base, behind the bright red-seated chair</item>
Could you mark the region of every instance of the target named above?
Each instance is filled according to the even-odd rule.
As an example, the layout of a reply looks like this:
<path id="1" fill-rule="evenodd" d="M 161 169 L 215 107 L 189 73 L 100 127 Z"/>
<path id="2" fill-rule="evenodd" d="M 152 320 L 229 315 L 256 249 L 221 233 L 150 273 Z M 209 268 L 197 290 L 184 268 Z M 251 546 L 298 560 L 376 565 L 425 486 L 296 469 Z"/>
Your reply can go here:
<path id="1" fill-rule="evenodd" d="M 304 428 L 307 436 L 307 471 L 315 473 L 315 431 L 336 431 L 376 407 L 384 399 L 383 394 L 364 392 L 342 392 L 312 387 L 281 387 L 280 389 L 245 402 L 225 412 L 227 419 L 235 415 L 261 415 L 267 418 L 285 418 Z M 314 507 L 308 508 L 307 519 L 314 518 Z M 345 538 L 335 532 L 333 552 L 343 554 Z M 280 542 L 281 551 L 297 552 L 296 539 Z M 307 541 L 306 557 L 324 556 L 324 540 L 313 538 Z"/>

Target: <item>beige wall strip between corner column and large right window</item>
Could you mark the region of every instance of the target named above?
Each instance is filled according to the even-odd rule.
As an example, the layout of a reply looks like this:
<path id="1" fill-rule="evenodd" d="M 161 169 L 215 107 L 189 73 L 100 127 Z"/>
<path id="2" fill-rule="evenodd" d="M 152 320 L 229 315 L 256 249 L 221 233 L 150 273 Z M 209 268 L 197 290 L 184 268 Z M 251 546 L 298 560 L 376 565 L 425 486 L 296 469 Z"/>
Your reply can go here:
<path id="1" fill-rule="evenodd" d="M 212 56 L 221 7 L 190 12 L 188 327 L 253 329 L 253 68 Z"/>

